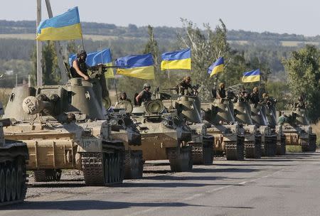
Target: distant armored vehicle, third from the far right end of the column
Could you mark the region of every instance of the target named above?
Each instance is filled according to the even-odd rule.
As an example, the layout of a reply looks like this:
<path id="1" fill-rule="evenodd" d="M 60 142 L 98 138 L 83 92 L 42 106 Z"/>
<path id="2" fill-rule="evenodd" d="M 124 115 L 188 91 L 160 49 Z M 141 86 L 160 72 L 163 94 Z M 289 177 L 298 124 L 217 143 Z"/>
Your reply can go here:
<path id="1" fill-rule="evenodd" d="M 262 134 L 262 156 L 275 156 L 277 153 L 277 134 L 269 126 L 265 104 L 250 104 L 252 123 L 258 126 Z"/>

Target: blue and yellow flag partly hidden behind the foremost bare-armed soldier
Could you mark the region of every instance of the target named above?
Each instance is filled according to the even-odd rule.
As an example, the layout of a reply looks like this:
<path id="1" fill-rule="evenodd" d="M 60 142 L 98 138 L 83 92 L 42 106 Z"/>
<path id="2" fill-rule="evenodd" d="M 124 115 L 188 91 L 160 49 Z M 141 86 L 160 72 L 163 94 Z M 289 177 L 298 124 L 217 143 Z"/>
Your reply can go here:
<path id="1" fill-rule="evenodd" d="M 69 56 L 69 64 L 73 65 L 73 60 L 77 58 L 77 54 L 72 54 Z M 101 51 L 97 51 L 95 53 L 88 53 L 87 59 L 85 60 L 85 63 L 89 66 L 95 66 L 98 64 L 106 65 L 106 66 L 112 66 L 112 58 L 111 58 L 111 51 L 110 49 L 105 49 Z M 113 78 L 113 70 L 112 68 L 108 68 L 108 70 L 105 72 L 106 78 Z"/>

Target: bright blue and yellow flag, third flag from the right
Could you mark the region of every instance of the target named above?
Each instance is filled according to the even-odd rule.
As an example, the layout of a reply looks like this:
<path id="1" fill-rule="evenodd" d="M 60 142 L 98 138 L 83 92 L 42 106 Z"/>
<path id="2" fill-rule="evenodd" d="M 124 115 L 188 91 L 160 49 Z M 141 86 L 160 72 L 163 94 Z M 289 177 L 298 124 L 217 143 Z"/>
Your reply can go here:
<path id="1" fill-rule="evenodd" d="M 191 50 L 186 48 L 174 52 L 162 53 L 161 70 L 187 69 L 191 70 Z"/>

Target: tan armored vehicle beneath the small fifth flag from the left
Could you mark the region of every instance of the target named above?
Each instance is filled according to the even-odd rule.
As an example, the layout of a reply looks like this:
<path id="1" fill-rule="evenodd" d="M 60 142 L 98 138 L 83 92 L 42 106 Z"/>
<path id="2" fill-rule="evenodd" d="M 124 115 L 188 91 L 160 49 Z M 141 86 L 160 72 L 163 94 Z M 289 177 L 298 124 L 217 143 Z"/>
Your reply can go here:
<path id="1" fill-rule="evenodd" d="M 230 107 L 231 104 L 231 107 Z M 203 119 L 210 123 L 207 133 L 214 137 L 216 155 L 225 155 L 227 160 L 243 160 L 245 150 L 245 131 L 235 122 L 230 98 L 214 99 L 202 103 Z"/>

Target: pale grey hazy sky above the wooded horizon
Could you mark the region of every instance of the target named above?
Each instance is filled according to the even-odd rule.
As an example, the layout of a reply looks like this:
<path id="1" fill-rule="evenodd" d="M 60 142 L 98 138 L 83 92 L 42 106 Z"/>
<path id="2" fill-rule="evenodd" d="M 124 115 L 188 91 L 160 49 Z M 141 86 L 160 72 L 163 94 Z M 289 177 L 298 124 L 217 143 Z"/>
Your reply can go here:
<path id="1" fill-rule="evenodd" d="M 0 0 L 0 20 L 36 20 L 36 0 Z M 80 21 L 117 26 L 181 27 L 187 18 L 214 27 L 219 18 L 229 30 L 320 35 L 320 1 L 311 0 L 50 0 L 53 16 L 79 7 Z M 42 0 L 43 19 L 48 18 Z"/>

